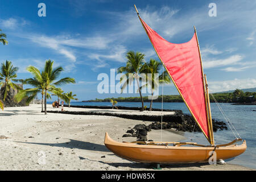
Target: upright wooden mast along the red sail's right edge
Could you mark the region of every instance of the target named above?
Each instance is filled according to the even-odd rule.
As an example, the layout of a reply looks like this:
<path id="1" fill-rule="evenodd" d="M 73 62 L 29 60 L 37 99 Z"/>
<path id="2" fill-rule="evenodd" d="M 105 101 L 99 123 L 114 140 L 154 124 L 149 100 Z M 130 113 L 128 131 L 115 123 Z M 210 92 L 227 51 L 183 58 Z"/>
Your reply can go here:
<path id="1" fill-rule="evenodd" d="M 205 98 L 205 111 L 207 113 L 207 124 L 208 124 L 208 133 L 209 133 L 209 139 L 210 139 L 210 144 L 213 145 L 214 144 L 214 140 L 213 140 L 213 133 L 212 133 L 212 114 L 210 113 L 210 103 L 208 103 L 208 86 L 205 83 L 206 80 L 204 79 L 204 70 L 203 70 L 203 62 L 202 62 L 202 56 L 201 56 L 201 51 L 200 51 L 200 46 L 199 46 L 199 41 L 197 38 L 197 33 L 196 33 L 196 26 L 194 26 L 194 30 L 195 30 L 195 34 L 196 34 L 196 41 L 197 41 L 197 46 L 198 46 L 198 50 L 199 50 L 199 55 L 200 55 L 200 64 L 201 64 L 201 71 L 202 71 L 202 80 L 203 80 L 203 88 L 204 88 L 204 98 Z M 205 87 L 207 89 L 205 89 Z"/>

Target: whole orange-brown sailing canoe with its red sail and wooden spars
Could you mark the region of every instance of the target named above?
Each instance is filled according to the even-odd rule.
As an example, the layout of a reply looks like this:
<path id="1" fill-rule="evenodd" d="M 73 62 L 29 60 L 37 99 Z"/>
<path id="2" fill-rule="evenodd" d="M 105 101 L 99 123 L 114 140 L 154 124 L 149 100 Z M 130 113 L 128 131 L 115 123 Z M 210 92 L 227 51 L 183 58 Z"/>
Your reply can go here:
<path id="1" fill-rule="evenodd" d="M 238 137 L 234 134 L 236 139 L 230 143 L 214 143 L 207 77 L 203 73 L 196 28 L 194 27 L 193 38 L 187 43 L 167 42 L 141 19 L 135 5 L 134 7 L 159 59 L 210 144 L 207 146 L 193 142 L 117 142 L 106 133 L 105 146 L 121 158 L 159 164 L 209 162 L 212 156 L 218 161 L 234 158 L 245 152 L 246 141 L 242 140 L 239 134 Z M 237 142 L 242 144 L 238 145 Z"/>

